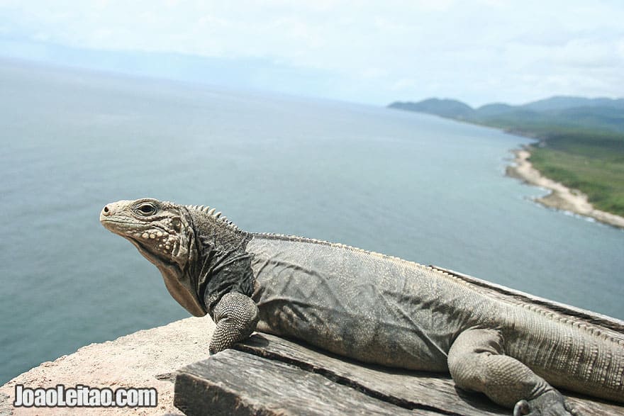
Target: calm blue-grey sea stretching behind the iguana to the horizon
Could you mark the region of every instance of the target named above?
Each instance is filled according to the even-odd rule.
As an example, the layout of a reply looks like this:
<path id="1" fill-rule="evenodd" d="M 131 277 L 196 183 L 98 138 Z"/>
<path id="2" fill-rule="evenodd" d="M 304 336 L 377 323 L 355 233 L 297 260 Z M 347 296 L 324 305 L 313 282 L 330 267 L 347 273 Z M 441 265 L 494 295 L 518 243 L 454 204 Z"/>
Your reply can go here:
<path id="1" fill-rule="evenodd" d="M 188 316 L 99 224 L 143 196 L 624 318 L 624 232 L 530 201 L 529 142 L 381 106 L 0 61 L 0 383 Z"/>

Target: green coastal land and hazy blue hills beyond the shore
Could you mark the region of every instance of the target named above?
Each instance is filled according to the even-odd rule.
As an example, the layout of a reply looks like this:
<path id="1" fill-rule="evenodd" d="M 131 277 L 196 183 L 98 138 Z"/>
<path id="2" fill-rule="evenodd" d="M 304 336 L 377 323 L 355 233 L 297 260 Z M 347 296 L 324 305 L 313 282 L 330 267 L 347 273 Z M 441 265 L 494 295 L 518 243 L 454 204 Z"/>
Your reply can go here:
<path id="1" fill-rule="evenodd" d="M 535 137 L 530 161 L 544 176 L 589 196 L 600 210 L 624 216 L 624 99 L 552 97 L 523 106 L 472 108 L 428 99 L 389 107 L 430 113 Z"/>

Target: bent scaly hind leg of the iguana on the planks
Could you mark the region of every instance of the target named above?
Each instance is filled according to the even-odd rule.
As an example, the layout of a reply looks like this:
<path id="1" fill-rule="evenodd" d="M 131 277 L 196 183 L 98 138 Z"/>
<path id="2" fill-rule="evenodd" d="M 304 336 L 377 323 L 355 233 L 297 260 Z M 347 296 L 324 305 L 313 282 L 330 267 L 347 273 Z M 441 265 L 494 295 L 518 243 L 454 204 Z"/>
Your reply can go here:
<path id="1" fill-rule="evenodd" d="M 485 393 L 513 415 L 572 415 L 561 393 L 527 366 L 504 355 L 503 336 L 496 330 L 462 332 L 452 344 L 448 366 L 457 386 Z"/>

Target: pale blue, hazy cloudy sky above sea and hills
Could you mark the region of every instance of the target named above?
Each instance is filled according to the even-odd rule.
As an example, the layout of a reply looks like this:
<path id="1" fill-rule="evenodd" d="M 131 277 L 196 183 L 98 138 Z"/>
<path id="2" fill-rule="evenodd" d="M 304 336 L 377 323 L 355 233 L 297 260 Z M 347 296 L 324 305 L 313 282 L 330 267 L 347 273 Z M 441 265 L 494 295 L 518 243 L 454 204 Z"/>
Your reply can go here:
<path id="1" fill-rule="evenodd" d="M 624 96 L 624 1 L 0 0 L 0 57 L 386 105 Z"/>

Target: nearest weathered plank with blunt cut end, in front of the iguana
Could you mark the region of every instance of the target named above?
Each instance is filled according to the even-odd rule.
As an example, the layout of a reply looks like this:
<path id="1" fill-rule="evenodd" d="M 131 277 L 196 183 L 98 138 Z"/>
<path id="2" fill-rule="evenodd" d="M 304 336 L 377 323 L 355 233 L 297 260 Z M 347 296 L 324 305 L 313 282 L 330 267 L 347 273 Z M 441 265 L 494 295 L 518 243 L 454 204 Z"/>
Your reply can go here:
<path id="1" fill-rule="evenodd" d="M 320 374 L 233 349 L 181 369 L 174 405 L 186 415 L 414 415 Z"/>

